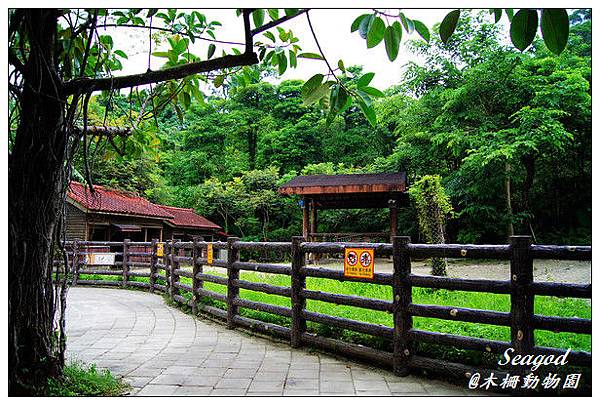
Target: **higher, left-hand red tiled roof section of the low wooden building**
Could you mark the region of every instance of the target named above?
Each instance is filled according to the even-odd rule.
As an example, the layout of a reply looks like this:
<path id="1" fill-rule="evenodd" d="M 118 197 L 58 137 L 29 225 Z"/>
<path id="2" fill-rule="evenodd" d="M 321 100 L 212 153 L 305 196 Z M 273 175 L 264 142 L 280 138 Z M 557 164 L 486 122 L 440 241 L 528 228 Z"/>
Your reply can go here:
<path id="1" fill-rule="evenodd" d="M 95 193 L 81 183 L 72 181 L 67 195 L 85 209 L 115 214 L 143 215 L 171 219 L 173 215 L 142 197 L 103 186 L 94 186 Z"/>

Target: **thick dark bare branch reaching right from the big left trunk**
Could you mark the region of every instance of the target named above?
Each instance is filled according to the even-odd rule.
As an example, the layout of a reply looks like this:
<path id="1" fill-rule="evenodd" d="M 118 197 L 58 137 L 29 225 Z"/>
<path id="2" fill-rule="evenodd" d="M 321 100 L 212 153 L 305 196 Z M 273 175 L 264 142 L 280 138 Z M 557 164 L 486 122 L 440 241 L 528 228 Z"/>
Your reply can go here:
<path id="1" fill-rule="evenodd" d="M 92 79 L 87 77 L 78 78 L 64 83 L 63 94 L 71 95 L 77 93 L 87 93 L 90 91 L 123 89 L 150 83 L 183 79 L 187 76 L 210 72 L 212 70 L 226 69 L 237 66 L 249 66 L 257 63 L 258 57 L 256 54 L 254 52 L 246 52 L 241 55 L 227 55 L 221 58 L 186 63 L 185 65 L 175 66 L 164 70 L 149 71 L 134 75 L 107 77 L 102 79 Z"/>

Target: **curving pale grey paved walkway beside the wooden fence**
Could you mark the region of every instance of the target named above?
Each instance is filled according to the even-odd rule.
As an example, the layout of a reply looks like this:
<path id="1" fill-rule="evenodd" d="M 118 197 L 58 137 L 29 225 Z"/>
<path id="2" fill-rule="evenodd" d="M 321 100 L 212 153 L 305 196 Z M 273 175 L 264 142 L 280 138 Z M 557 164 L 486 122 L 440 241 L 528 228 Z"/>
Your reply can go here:
<path id="1" fill-rule="evenodd" d="M 123 376 L 131 395 L 466 395 L 228 330 L 142 291 L 69 291 L 68 356 Z"/>

